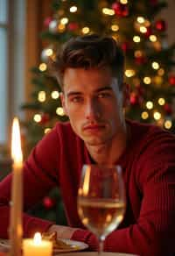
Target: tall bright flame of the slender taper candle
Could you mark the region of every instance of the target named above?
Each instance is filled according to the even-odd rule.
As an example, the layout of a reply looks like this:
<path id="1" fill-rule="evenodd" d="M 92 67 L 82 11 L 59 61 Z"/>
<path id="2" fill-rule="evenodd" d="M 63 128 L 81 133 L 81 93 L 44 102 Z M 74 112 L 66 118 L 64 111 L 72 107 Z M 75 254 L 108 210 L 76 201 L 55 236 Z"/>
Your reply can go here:
<path id="1" fill-rule="evenodd" d="M 11 140 L 11 157 L 14 163 L 22 163 L 23 153 L 21 150 L 20 128 L 18 118 L 13 119 L 12 140 Z"/>

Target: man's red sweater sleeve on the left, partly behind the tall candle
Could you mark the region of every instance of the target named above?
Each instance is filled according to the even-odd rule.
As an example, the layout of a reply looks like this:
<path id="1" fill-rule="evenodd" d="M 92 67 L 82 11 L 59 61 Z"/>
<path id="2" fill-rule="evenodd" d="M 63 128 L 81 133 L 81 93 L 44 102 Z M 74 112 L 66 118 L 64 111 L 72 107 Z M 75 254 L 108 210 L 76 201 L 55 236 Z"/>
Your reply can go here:
<path id="1" fill-rule="evenodd" d="M 31 209 L 50 189 L 59 184 L 59 141 L 56 128 L 38 143 L 32 150 L 23 169 L 24 211 Z M 9 174 L 0 182 L 0 237 L 8 238 L 11 179 Z M 24 213 L 24 236 L 30 237 L 35 231 L 45 231 L 52 223 Z"/>

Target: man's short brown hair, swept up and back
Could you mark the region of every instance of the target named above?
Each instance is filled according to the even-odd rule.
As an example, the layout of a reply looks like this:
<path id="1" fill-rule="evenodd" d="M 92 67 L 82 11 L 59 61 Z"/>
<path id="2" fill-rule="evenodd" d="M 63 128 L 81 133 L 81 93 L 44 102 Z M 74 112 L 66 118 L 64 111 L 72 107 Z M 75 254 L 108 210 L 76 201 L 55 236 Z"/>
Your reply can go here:
<path id="1" fill-rule="evenodd" d="M 123 86 L 123 51 L 116 40 L 97 34 L 70 39 L 59 51 L 52 63 L 53 74 L 61 86 L 66 68 L 104 68 L 109 67 L 117 77 L 119 88 Z"/>

